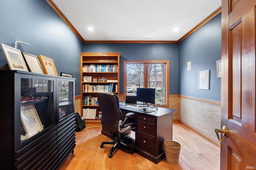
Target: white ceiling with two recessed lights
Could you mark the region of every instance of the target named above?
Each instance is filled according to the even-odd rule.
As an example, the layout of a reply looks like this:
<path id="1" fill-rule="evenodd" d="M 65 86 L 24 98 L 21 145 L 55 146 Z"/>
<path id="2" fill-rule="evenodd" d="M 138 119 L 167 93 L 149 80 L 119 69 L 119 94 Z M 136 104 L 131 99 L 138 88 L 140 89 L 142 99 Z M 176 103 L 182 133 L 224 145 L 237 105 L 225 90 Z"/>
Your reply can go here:
<path id="1" fill-rule="evenodd" d="M 221 0 L 46 1 L 84 42 L 178 41 L 221 9 Z"/>

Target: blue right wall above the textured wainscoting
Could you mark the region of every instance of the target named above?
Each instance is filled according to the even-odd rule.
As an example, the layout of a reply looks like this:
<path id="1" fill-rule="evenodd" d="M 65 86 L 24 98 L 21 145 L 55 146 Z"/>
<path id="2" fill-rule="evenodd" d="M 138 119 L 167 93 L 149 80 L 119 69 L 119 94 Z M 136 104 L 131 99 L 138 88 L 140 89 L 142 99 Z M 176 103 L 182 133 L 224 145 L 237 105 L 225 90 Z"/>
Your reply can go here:
<path id="1" fill-rule="evenodd" d="M 179 94 L 220 101 L 221 78 L 216 61 L 221 59 L 221 14 L 179 43 Z M 187 62 L 191 61 L 191 71 Z M 198 89 L 198 71 L 210 70 L 210 89 Z"/>

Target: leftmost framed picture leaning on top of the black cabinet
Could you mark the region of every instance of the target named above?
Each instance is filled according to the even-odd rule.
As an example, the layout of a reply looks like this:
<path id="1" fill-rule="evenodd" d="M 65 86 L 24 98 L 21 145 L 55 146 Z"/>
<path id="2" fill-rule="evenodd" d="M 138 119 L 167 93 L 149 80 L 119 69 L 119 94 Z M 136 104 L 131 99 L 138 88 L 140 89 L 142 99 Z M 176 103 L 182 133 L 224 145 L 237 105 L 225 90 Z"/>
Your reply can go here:
<path id="1" fill-rule="evenodd" d="M 1 44 L 10 70 L 28 71 L 26 63 L 19 49 Z"/>

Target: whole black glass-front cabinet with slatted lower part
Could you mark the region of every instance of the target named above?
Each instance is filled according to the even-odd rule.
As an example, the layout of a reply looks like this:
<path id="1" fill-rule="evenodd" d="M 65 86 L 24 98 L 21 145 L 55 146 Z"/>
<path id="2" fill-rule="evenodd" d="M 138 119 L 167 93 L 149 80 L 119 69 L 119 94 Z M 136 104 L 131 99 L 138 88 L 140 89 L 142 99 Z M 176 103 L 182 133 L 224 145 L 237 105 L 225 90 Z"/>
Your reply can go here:
<path id="1" fill-rule="evenodd" d="M 74 78 L 17 70 L 0 70 L 0 78 L 0 167 L 57 169 L 75 147 Z M 70 109 L 60 120 L 61 80 L 72 86 L 64 90 Z"/>

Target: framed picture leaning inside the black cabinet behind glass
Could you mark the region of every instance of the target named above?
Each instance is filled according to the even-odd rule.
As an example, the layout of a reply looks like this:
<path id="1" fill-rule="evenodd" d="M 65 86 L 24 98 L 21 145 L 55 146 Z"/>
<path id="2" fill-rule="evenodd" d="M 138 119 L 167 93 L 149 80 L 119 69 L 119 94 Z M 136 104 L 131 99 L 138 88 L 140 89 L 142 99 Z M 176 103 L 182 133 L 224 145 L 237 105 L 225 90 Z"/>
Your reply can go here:
<path id="1" fill-rule="evenodd" d="M 44 129 L 34 104 L 20 107 L 20 119 L 28 137 Z"/>

